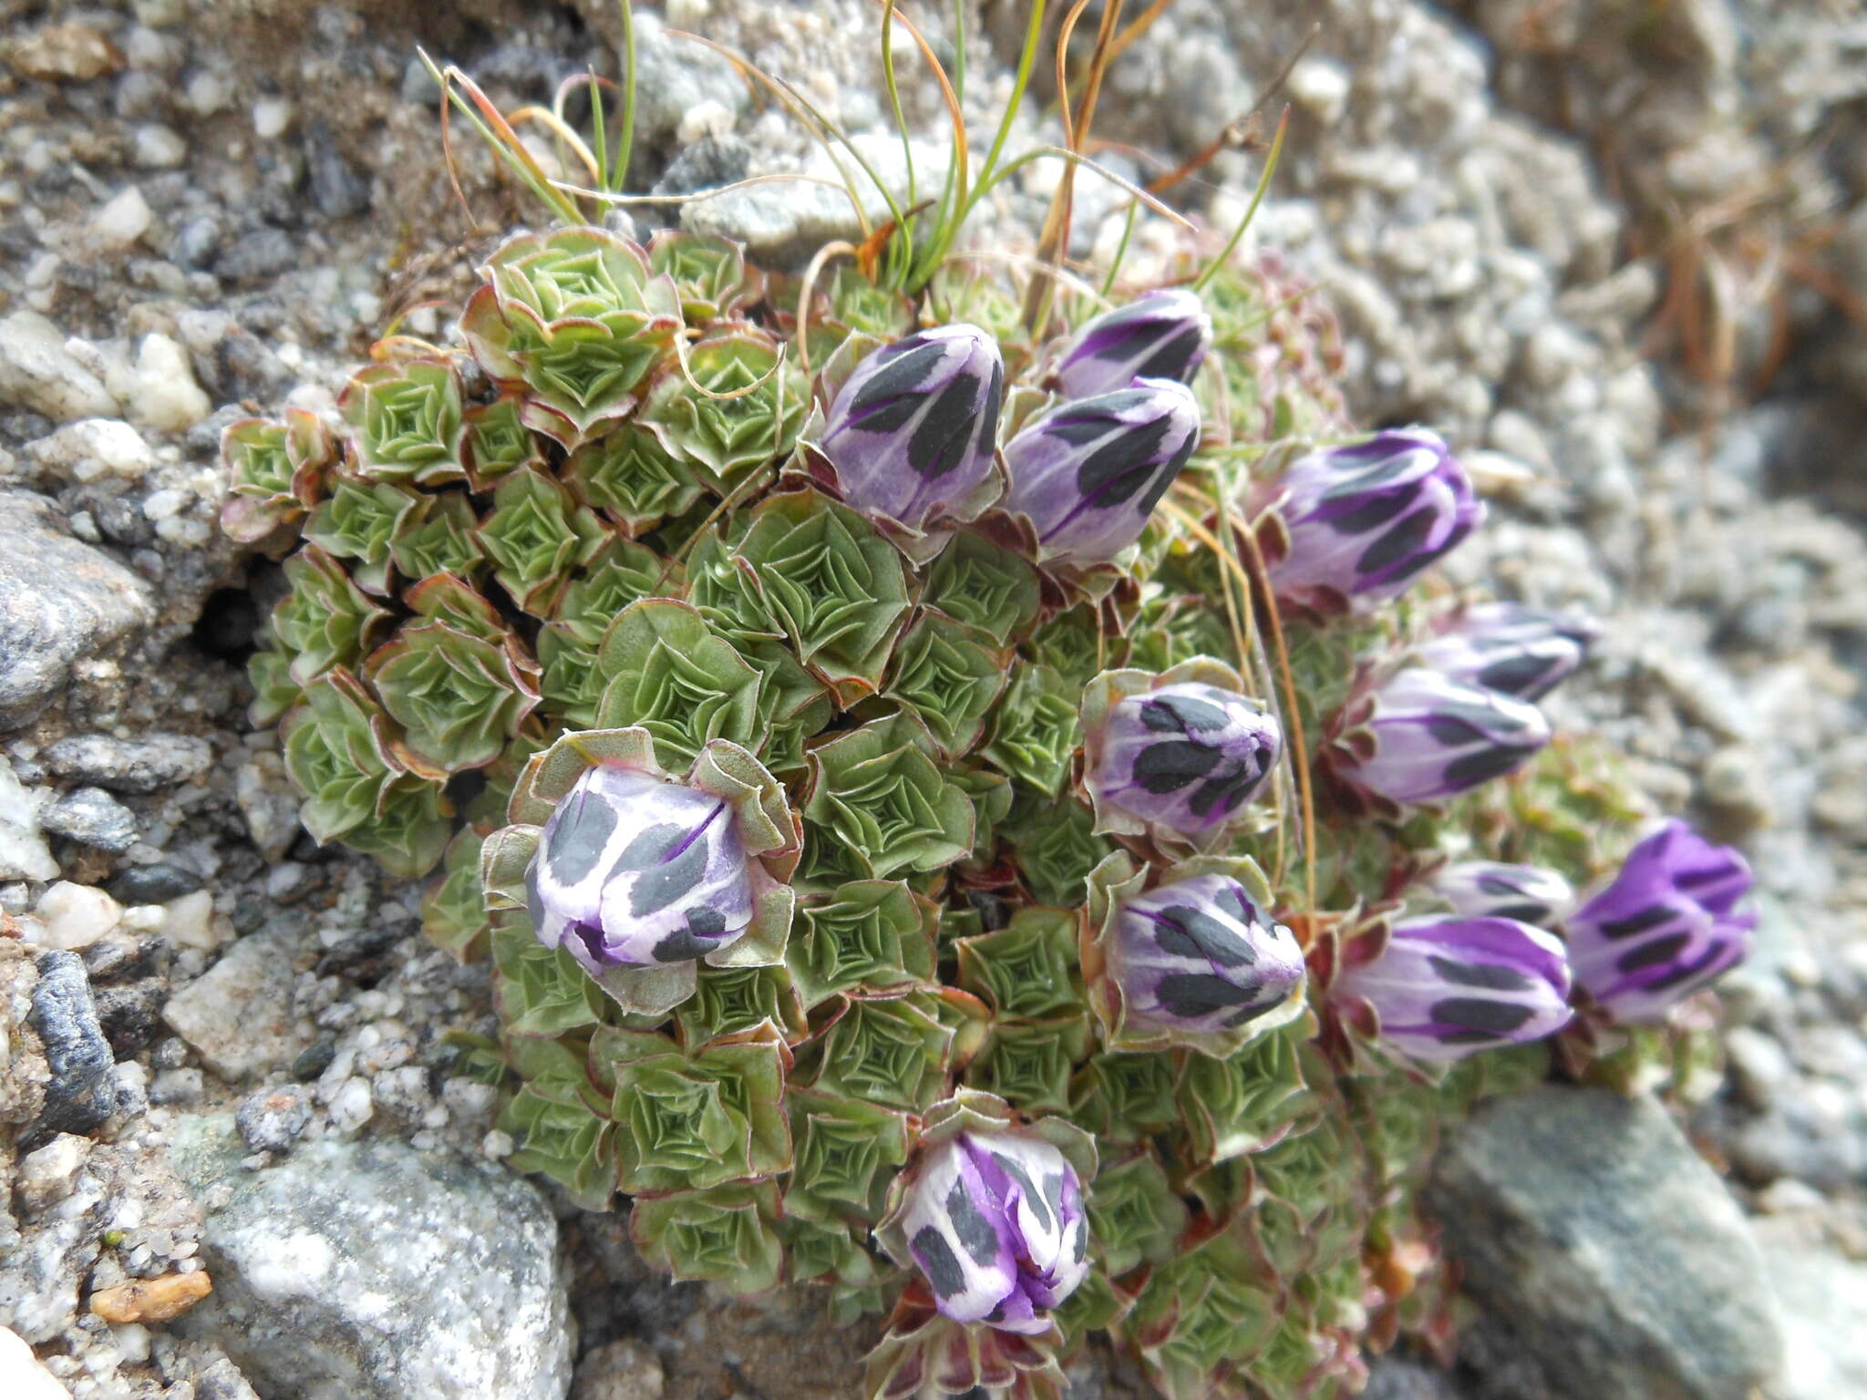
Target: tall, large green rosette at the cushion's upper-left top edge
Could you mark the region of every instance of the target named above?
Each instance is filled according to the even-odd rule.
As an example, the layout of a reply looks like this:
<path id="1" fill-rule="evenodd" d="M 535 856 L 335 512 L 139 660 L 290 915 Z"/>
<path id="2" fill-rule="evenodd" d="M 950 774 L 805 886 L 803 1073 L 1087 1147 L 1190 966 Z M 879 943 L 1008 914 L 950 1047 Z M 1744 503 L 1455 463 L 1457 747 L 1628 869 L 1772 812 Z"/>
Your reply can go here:
<path id="1" fill-rule="evenodd" d="M 485 371 L 526 390 L 532 427 L 575 446 L 635 407 L 681 329 L 680 293 L 599 228 L 508 239 L 480 269 L 461 332 Z"/>

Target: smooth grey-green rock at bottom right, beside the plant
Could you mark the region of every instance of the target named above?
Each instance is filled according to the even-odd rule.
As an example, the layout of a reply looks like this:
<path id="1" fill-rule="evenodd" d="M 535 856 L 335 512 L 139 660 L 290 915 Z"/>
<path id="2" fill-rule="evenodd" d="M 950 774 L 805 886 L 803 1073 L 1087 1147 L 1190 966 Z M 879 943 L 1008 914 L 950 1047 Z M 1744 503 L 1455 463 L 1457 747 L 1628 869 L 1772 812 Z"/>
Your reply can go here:
<path id="1" fill-rule="evenodd" d="M 1426 1193 L 1447 1254 L 1557 1396 L 1749 1400 L 1783 1363 L 1723 1182 L 1649 1098 L 1544 1086 L 1481 1109 Z"/>

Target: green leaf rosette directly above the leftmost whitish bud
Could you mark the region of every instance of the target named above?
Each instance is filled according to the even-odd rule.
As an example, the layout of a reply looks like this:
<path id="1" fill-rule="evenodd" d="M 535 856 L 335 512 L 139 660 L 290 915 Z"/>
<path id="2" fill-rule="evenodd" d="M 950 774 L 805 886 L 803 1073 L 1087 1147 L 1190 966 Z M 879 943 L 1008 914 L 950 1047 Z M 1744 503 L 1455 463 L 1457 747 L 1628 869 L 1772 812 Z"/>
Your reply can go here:
<path id="1" fill-rule="evenodd" d="M 674 767 L 691 763 L 708 739 L 756 752 L 769 730 L 764 678 L 689 603 L 648 597 L 625 607 L 597 648 L 597 722 L 648 730 L 657 760 Z"/>

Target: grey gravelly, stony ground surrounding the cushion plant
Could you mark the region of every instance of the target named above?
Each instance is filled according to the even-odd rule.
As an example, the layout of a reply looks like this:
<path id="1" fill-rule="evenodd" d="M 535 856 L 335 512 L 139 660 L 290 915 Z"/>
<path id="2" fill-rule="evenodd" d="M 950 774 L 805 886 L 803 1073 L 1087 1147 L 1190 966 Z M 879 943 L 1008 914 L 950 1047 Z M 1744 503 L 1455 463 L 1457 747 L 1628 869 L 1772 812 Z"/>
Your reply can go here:
<path id="1" fill-rule="evenodd" d="M 1019 9 L 975 26 L 980 116 Z M 881 131 L 872 13 L 665 21 Z M 414 47 L 541 101 L 611 62 L 611 7 L 0 0 L 0 1378 L 28 1376 L 22 1338 L 73 1396 L 849 1394 L 866 1342 L 814 1297 L 670 1286 L 618 1217 L 498 1167 L 489 1096 L 439 1045 L 491 1023 L 484 971 L 420 939 L 420 889 L 299 833 L 243 721 L 278 579 L 215 528 L 220 427 L 329 405 L 396 314 L 439 332 L 424 304 L 525 217 L 470 149 L 472 217 L 454 200 Z M 1318 21 L 1253 241 L 1324 282 L 1357 418 L 1434 424 L 1494 485 L 1460 579 L 1609 623 L 1551 717 L 1751 853 L 1759 952 L 1688 1127 L 1781 1299 L 1779 1400 L 1863 1394 L 1867 24 L 1845 0 L 1180 0 L 1115 71 L 1107 164 L 1204 147 Z M 823 166 L 723 63 L 646 15 L 640 39 L 637 187 Z M 937 131 L 935 93 L 904 97 Z M 1255 159 L 1176 196 L 1225 224 Z M 1055 179 L 1031 170 L 988 211 L 993 246 L 1029 246 Z M 782 259 L 849 231 L 812 190 L 642 222 Z M 1113 246 L 1113 205 L 1085 181 L 1079 254 Z M 428 1221 L 396 1213 L 411 1174 Z M 1395 1365 L 1376 1391 L 1570 1394 L 1512 1370 L 1523 1325 L 1481 1322 L 1454 1378 Z M 1074 1394 L 1135 1385 L 1092 1355 Z"/>

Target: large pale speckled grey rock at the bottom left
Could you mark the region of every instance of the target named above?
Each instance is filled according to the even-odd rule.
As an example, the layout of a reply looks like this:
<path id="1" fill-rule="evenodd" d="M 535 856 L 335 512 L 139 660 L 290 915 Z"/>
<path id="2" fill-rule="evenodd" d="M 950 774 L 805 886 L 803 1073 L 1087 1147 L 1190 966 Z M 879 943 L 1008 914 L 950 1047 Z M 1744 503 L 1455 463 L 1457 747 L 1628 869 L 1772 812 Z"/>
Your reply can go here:
<path id="1" fill-rule="evenodd" d="M 302 1144 L 243 1172 L 226 1114 L 185 1120 L 175 1163 L 211 1204 L 213 1295 L 175 1329 L 267 1396 L 562 1400 L 569 1327 L 536 1187 L 400 1142 Z"/>

